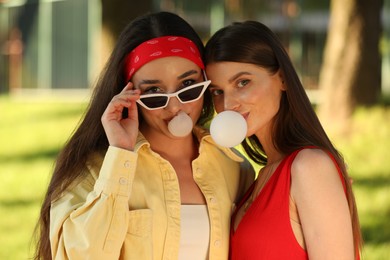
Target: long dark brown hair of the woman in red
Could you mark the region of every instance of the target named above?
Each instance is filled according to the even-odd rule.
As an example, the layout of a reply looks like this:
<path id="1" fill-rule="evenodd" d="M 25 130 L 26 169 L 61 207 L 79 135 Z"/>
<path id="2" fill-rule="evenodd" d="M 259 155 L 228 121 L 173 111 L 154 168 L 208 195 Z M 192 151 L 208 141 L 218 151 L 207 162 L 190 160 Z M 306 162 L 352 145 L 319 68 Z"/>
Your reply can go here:
<path id="1" fill-rule="evenodd" d="M 354 243 L 360 249 L 361 231 L 344 159 L 325 133 L 289 55 L 276 34 L 256 21 L 233 23 L 220 29 L 206 44 L 205 62 L 207 66 L 222 61 L 254 64 L 271 74 L 281 72 L 286 91 L 282 93 L 280 109 L 275 116 L 273 144 L 282 154 L 290 154 L 306 146 L 317 146 L 333 155 L 346 184 Z M 264 149 L 255 135 L 246 138 L 242 145 L 255 162 L 260 165 L 267 163 Z"/>

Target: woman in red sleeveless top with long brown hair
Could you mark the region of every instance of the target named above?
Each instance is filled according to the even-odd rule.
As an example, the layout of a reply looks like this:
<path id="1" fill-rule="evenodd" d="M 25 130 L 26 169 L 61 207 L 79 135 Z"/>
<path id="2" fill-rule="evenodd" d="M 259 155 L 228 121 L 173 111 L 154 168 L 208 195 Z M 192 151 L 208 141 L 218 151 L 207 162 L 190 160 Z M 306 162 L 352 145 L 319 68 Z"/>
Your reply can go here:
<path id="1" fill-rule="evenodd" d="M 244 116 L 244 149 L 264 166 L 233 217 L 231 259 L 359 259 L 345 163 L 276 35 L 234 23 L 209 40 L 206 64 L 217 112 Z"/>

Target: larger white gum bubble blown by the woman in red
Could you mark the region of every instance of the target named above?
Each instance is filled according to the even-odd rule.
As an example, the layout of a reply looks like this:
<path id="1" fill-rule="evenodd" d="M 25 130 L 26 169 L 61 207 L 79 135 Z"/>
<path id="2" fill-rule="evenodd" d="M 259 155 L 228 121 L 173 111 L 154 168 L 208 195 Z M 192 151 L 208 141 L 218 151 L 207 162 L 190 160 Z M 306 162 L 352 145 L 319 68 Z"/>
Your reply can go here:
<path id="1" fill-rule="evenodd" d="M 247 124 L 240 113 L 223 111 L 211 121 L 210 134 L 214 141 L 224 147 L 240 144 L 246 136 Z"/>

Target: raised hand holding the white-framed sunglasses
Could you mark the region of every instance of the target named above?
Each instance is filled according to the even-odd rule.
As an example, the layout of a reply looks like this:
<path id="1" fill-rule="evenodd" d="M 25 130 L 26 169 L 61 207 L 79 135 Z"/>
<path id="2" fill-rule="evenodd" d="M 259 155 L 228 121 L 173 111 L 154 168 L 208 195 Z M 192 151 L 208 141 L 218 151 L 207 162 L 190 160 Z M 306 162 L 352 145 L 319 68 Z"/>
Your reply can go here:
<path id="1" fill-rule="evenodd" d="M 134 150 L 138 135 L 138 110 L 136 100 L 140 90 L 132 89 L 129 82 L 126 87 L 108 104 L 101 121 L 111 146 Z M 128 109 L 128 118 L 122 118 L 122 111 Z"/>

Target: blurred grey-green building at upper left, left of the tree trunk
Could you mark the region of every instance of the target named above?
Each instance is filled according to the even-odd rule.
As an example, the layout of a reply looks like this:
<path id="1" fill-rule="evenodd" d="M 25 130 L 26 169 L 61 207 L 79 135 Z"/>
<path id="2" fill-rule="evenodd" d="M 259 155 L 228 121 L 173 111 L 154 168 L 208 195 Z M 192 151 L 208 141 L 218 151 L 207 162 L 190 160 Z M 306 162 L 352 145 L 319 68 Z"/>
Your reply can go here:
<path id="1" fill-rule="evenodd" d="M 99 1 L 3 1 L 2 92 L 88 88 Z"/>

